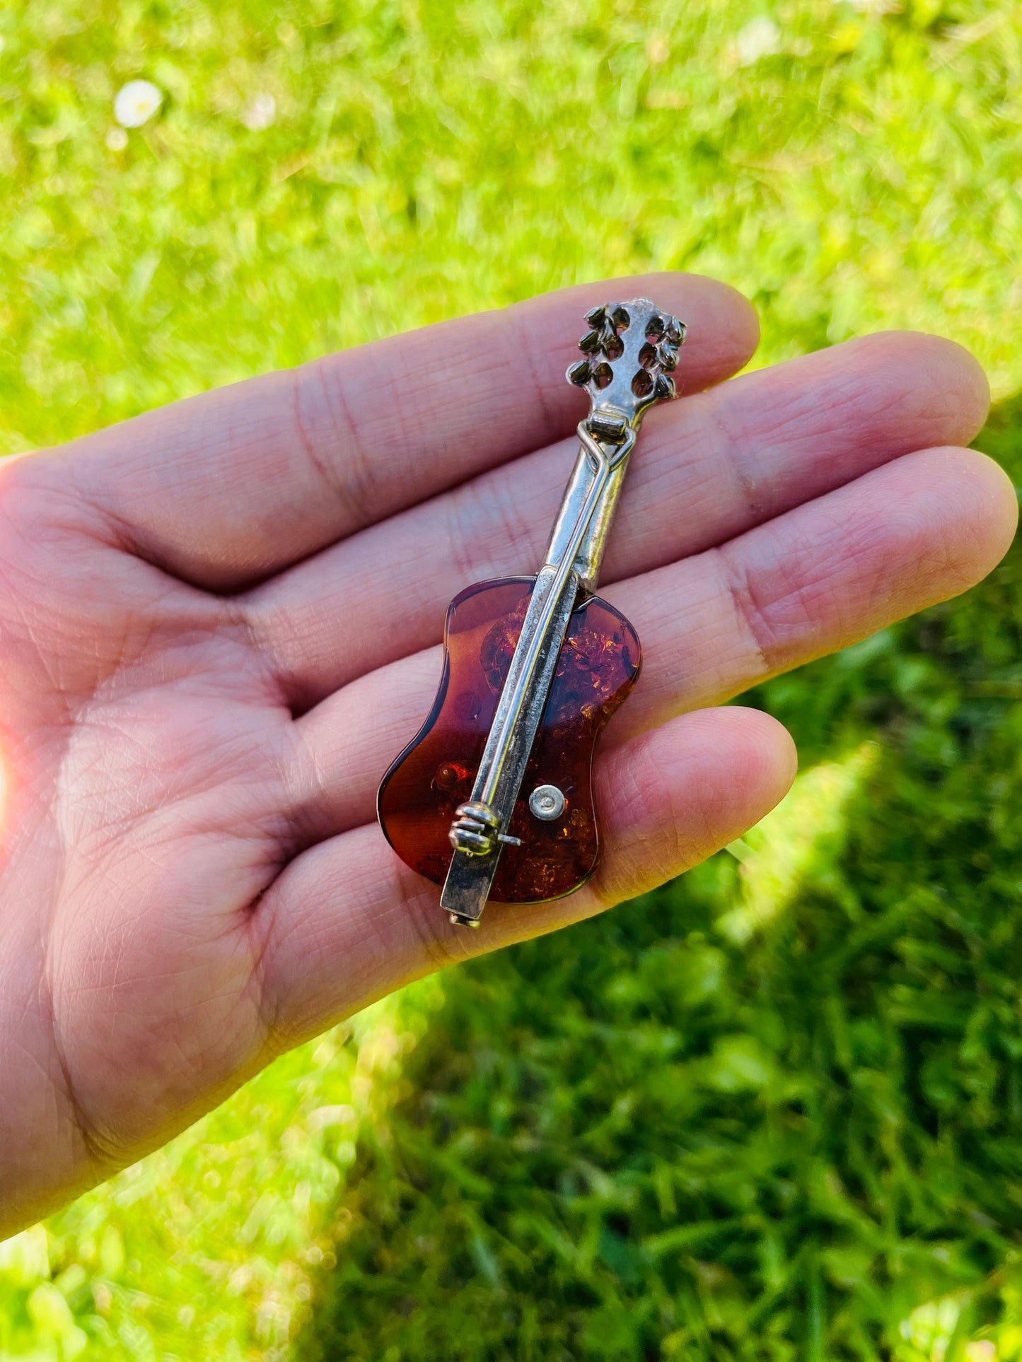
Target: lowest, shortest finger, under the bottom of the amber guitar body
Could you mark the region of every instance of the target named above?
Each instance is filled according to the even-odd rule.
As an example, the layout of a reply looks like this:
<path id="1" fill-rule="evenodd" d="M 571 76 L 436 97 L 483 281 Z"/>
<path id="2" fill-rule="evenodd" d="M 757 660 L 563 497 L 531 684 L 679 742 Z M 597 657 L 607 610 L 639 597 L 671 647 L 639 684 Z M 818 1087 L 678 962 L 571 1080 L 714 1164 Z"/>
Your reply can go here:
<path id="1" fill-rule="evenodd" d="M 597 876 L 553 903 L 491 904 L 474 932 L 450 925 L 436 885 L 403 866 L 375 825 L 320 843 L 259 906 L 264 1015 L 278 1045 L 452 960 L 553 932 L 680 874 L 762 819 L 794 765 L 788 733 L 756 710 L 691 714 L 634 738 L 598 759 Z"/>

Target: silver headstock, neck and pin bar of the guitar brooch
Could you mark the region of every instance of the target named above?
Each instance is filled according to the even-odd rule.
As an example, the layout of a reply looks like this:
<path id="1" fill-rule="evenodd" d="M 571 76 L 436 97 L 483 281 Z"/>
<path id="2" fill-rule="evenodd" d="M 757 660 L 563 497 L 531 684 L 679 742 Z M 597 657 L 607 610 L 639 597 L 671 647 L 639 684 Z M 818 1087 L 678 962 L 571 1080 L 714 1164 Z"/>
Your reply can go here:
<path id="1" fill-rule="evenodd" d="M 454 859 L 440 903 L 452 922 L 465 925 L 478 923 L 501 843 L 515 840 L 507 836 L 507 827 L 571 612 L 579 590 L 595 586 L 642 417 L 655 402 L 675 396 L 670 372 L 684 340 L 681 321 L 649 298 L 594 308 L 586 320 L 590 330 L 579 340 L 585 358 L 567 375 L 590 395 L 589 417 L 578 428 L 579 455 L 536 577 L 471 798 L 456 809 L 451 824 Z"/>

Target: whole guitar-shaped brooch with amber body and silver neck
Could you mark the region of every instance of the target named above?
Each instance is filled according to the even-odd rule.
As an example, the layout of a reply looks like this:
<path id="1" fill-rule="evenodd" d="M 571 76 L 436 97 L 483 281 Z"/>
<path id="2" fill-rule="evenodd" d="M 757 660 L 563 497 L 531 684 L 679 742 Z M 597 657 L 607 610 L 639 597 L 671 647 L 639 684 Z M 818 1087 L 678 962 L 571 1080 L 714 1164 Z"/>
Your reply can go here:
<path id="1" fill-rule="evenodd" d="M 387 840 L 463 926 L 488 899 L 559 899 L 593 874 L 593 753 L 639 676 L 635 629 L 593 592 L 642 417 L 675 396 L 685 327 L 649 298 L 586 320 L 568 380 L 591 410 L 544 565 L 454 598 L 433 707 L 377 795 Z"/>

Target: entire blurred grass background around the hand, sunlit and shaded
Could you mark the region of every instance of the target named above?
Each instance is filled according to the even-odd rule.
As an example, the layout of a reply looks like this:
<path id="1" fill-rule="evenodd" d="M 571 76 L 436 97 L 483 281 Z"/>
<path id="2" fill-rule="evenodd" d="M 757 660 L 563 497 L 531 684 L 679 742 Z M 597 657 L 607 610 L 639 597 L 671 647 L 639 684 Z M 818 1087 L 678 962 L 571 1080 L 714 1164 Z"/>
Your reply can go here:
<path id="1" fill-rule="evenodd" d="M 756 364 L 959 339 L 1022 481 L 1015 0 L 34 0 L 0 38 L 5 452 L 691 268 Z M 804 774 L 729 853 L 0 1246 L 0 1358 L 1022 1358 L 1021 576 L 758 692 Z"/>

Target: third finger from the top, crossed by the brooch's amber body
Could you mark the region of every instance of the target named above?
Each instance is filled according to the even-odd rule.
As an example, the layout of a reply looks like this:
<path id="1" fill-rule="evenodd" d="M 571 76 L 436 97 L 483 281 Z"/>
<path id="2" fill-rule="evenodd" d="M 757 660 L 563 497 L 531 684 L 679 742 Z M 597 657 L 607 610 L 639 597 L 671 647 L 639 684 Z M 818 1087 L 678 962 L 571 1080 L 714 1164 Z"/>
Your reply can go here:
<path id="1" fill-rule="evenodd" d="M 643 646 L 616 744 L 846 647 L 978 582 L 1017 519 L 1006 474 L 970 449 L 906 455 L 721 549 L 631 577 L 606 597 Z M 413 737 L 440 650 L 362 677 L 301 720 L 315 771 L 293 816 L 308 836 L 372 817 L 387 759 Z"/>

